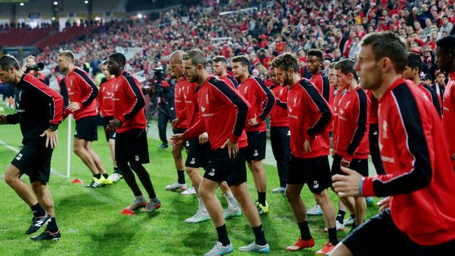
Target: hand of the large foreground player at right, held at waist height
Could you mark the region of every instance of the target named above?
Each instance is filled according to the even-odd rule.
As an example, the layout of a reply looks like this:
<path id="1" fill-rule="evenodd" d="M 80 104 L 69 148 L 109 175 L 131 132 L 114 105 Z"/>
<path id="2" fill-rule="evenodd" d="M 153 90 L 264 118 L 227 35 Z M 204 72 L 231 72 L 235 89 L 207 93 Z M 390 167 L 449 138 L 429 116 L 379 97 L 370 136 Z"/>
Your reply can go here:
<path id="1" fill-rule="evenodd" d="M 338 197 L 360 197 L 360 180 L 362 176 L 357 171 L 341 167 L 346 175 L 335 174 L 332 176 L 333 190 Z"/>

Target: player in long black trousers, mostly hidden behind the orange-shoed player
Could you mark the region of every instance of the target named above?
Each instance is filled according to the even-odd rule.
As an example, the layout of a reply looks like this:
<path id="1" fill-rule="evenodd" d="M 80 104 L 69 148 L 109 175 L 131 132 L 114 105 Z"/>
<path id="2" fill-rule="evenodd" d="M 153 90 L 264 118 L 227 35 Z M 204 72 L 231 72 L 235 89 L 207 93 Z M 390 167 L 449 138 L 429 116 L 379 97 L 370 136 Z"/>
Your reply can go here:
<path id="1" fill-rule="evenodd" d="M 279 176 L 279 187 L 272 190 L 272 193 L 284 193 L 286 190 L 286 176 L 288 173 L 290 159 L 290 132 L 288 120 L 288 85 L 280 85 L 276 80 L 275 70 L 270 69 L 270 78 L 273 85 L 270 87 L 276 104 L 270 111 L 270 142 L 272 152 L 276 160 L 276 169 Z"/>

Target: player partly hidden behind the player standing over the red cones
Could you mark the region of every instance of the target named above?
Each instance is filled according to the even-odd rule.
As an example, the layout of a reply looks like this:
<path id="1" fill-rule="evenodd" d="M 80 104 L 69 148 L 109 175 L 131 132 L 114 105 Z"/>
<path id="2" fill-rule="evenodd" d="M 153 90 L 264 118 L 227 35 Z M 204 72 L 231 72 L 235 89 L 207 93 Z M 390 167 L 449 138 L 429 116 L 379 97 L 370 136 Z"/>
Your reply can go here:
<path id="1" fill-rule="evenodd" d="M 113 85 L 114 82 L 116 81 L 116 76 L 111 75 L 109 73 L 109 69 L 107 68 L 108 66 L 108 61 L 105 60 L 101 64 L 101 70 L 104 73 L 104 78 L 101 80 L 101 83 L 99 84 L 99 94 L 98 94 L 98 111 L 99 111 L 99 116 L 103 119 L 103 127 L 104 130 L 106 130 L 107 125 L 109 125 L 109 122 L 113 120 L 113 102 L 112 102 L 112 97 L 113 97 Z M 106 141 L 109 144 L 109 152 L 111 152 L 111 159 L 114 167 L 114 172 L 110 176 L 111 180 L 113 182 L 118 182 L 122 176 L 122 172 L 120 169 L 118 169 L 117 164 L 116 164 L 116 132 L 113 131 L 110 134 L 106 134 Z"/>

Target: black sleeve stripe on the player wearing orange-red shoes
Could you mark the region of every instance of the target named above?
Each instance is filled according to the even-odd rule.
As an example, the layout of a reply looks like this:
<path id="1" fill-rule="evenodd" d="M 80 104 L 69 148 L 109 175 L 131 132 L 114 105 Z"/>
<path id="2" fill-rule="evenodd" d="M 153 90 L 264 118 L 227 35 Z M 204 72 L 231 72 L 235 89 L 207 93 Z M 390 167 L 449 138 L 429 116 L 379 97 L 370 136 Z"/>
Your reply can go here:
<path id="1" fill-rule="evenodd" d="M 307 92 L 309 98 L 313 101 L 314 105 L 316 105 L 316 108 L 318 108 L 318 111 L 321 113 L 321 116 L 314 123 L 314 125 L 307 129 L 308 136 L 313 137 L 330 124 L 330 120 L 332 120 L 332 112 L 330 111 L 330 107 L 327 102 L 324 101 L 323 97 L 319 93 L 318 89 L 314 87 L 309 80 L 302 79 L 299 85 L 303 87 L 305 92 Z M 304 109 L 303 113 L 305 111 L 308 110 Z"/>

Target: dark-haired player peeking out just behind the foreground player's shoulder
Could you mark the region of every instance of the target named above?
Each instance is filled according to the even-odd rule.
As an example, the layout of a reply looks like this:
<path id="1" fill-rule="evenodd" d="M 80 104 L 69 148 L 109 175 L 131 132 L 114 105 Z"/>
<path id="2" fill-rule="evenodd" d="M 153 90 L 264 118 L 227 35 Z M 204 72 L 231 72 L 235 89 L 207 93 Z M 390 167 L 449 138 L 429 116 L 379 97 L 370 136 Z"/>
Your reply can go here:
<path id="1" fill-rule="evenodd" d="M 433 106 L 435 106 L 437 114 L 441 116 L 441 102 L 440 97 L 437 96 L 437 93 L 433 88 L 426 85 L 425 82 L 421 82 L 420 73 L 422 71 L 422 59 L 415 52 L 408 52 L 407 54 L 407 64 L 405 70 L 403 71 L 403 78 L 412 80 L 419 89 L 425 93 L 426 98 L 430 101 Z"/>

